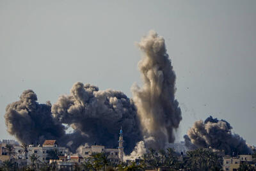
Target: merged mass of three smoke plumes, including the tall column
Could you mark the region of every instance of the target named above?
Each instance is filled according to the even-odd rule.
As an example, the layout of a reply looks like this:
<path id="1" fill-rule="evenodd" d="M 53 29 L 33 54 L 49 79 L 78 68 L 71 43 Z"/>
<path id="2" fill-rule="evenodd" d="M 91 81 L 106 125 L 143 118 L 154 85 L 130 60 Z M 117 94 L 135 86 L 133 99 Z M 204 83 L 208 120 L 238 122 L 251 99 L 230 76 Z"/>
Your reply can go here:
<path id="1" fill-rule="evenodd" d="M 122 126 L 125 153 L 132 152 L 137 144 L 132 153 L 137 156 L 145 151 L 144 144 L 160 149 L 173 142 L 173 131 L 182 117 L 174 96 L 175 73 L 164 39 L 151 31 L 138 45 L 145 54 L 139 63 L 144 84 L 141 88 L 132 87 L 133 100 L 121 91 L 100 91 L 81 82 L 52 106 L 38 103 L 33 91 L 24 91 L 19 101 L 6 107 L 8 132 L 26 144 L 56 139 L 76 152 L 85 143 L 116 147 Z M 66 133 L 64 125 L 74 132 Z"/>

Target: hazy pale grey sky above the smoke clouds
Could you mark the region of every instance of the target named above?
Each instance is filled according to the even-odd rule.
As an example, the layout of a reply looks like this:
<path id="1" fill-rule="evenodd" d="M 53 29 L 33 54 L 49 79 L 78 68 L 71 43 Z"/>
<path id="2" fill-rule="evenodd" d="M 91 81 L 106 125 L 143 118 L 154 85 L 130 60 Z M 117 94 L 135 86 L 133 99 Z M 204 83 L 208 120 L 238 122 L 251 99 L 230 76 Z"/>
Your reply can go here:
<path id="1" fill-rule="evenodd" d="M 183 120 L 226 119 L 256 145 L 256 1 L 0 0 L 0 138 L 5 107 L 33 89 L 40 103 L 79 81 L 131 97 L 141 83 L 135 45 L 154 29 L 166 40 Z"/>

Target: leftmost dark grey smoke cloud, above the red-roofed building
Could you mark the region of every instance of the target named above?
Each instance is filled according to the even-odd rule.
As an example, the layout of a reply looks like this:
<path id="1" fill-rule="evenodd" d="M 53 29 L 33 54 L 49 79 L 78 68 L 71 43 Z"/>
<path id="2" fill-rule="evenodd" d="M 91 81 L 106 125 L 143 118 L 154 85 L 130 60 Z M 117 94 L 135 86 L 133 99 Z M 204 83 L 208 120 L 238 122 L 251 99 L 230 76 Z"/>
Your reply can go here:
<path id="1" fill-rule="evenodd" d="M 38 103 L 32 90 L 24 91 L 19 101 L 8 105 L 4 118 L 8 133 L 22 143 L 42 144 L 45 139 L 59 139 L 65 134 L 64 126 L 52 118 L 51 103 Z"/>

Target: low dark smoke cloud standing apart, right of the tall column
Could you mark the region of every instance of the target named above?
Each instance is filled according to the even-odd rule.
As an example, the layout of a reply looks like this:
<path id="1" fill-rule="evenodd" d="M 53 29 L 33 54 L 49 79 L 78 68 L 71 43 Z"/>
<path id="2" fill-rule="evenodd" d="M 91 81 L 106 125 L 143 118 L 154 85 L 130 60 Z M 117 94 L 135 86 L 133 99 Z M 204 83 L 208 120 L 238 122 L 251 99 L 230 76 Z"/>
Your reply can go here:
<path id="1" fill-rule="evenodd" d="M 225 120 L 213 119 L 212 116 L 205 121 L 196 121 L 188 130 L 185 138 L 187 147 L 211 147 L 212 149 L 224 150 L 226 154 L 248 154 L 252 149 L 245 140 L 232 133 L 232 126 Z M 191 146 L 191 143 L 195 146 Z"/>

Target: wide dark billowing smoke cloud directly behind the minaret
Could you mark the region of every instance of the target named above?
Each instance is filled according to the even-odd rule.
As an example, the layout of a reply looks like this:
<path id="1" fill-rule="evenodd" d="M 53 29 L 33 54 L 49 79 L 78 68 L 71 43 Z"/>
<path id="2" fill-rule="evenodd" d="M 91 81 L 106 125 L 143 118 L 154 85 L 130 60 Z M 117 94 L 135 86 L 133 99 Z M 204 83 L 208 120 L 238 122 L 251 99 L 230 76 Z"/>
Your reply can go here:
<path id="1" fill-rule="evenodd" d="M 99 91 L 94 85 L 77 82 L 69 95 L 60 96 L 52 105 L 52 115 L 86 136 L 86 140 L 70 140 L 77 145 L 96 142 L 116 147 L 121 126 L 125 131 L 125 152 L 131 152 L 142 138 L 134 103 L 121 91 Z"/>

